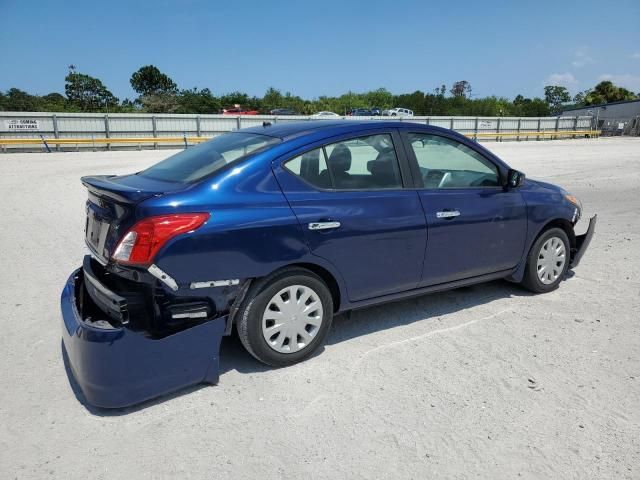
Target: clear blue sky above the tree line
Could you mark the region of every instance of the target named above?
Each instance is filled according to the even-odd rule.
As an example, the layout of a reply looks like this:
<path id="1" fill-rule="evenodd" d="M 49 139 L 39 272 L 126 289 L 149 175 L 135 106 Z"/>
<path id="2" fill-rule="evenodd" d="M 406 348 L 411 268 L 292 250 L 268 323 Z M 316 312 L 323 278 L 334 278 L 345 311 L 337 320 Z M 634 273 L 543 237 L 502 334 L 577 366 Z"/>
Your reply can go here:
<path id="1" fill-rule="evenodd" d="M 0 90 L 64 92 L 69 64 L 118 97 L 153 64 L 180 88 L 314 98 L 386 87 L 640 91 L 640 1 L 0 0 Z"/>

